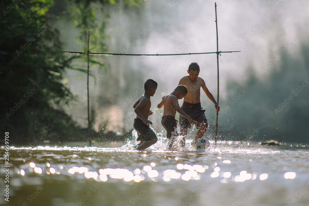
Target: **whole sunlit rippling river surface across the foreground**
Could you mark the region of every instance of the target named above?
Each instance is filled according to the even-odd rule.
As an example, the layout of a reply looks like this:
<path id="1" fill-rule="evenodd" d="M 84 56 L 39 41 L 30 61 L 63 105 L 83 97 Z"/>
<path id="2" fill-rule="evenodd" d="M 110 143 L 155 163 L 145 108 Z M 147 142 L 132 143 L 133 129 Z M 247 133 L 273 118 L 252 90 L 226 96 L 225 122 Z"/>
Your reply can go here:
<path id="1" fill-rule="evenodd" d="M 208 151 L 122 147 L 1 148 L 3 205 L 309 205 L 303 145 L 211 141 Z M 187 141 L 186 145 L 190 145 Z M 163 148 L 163 149 L 162 149 Z M 2 161 L 3 160 L 3 161 Z M 4 183 L 9 168 L 9 183 Z"/>

